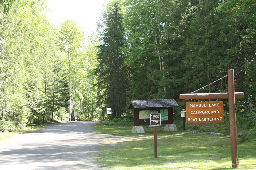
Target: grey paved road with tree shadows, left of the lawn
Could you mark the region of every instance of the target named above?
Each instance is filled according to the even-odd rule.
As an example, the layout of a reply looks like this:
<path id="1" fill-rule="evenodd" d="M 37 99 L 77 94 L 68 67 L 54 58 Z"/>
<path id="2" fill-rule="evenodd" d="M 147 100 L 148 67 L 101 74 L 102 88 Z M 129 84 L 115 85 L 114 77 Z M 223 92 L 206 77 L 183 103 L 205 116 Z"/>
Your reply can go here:
<path id="1" fill-rule="evenodd" d="M 0 170 L 105 170 L 91 159 L 102 139 L 97 122 L 65 122 L 20 134 L 0 147 Z"/>

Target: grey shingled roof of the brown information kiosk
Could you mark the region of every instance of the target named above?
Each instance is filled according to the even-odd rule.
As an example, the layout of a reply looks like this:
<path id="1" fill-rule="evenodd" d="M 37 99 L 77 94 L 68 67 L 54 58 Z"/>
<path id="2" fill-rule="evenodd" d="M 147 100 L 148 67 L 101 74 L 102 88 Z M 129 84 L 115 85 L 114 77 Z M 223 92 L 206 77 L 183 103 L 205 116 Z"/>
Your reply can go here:
<path id="1" fill-rule="evenodd" d="M 178 103 L 173 99 L 159 100 L 132 100 L 129 109 L 132 108 L 152 108 L 152 107 L 179 107 Z"/>

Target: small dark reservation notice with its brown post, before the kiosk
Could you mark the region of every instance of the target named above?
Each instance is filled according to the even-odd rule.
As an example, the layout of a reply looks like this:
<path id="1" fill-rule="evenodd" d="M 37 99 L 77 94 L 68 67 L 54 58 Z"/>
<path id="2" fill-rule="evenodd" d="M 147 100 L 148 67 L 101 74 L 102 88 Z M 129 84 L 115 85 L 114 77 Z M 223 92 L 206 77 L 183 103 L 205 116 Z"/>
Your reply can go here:
<path id="1" fill-rule="evenodd" d="M 156 126 L 161 126 L 161 114 L 154 113 L 150 114 L 150 125 L 154 126 L 154 148 L 155 148 L 155 158 L 157 158 L 157 136 L 156 136 Z"/>

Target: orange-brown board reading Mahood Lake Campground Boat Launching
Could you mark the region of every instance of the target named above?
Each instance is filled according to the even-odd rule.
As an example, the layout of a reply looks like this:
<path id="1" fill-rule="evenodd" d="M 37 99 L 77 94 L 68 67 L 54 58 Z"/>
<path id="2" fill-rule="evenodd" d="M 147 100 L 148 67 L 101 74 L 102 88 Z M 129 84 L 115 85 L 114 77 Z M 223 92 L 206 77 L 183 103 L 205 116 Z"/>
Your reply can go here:
<path id="1" fill-rule="evenodd" d="M 223 101 L 186 102 L 187 123 L 224 122 Z"/>

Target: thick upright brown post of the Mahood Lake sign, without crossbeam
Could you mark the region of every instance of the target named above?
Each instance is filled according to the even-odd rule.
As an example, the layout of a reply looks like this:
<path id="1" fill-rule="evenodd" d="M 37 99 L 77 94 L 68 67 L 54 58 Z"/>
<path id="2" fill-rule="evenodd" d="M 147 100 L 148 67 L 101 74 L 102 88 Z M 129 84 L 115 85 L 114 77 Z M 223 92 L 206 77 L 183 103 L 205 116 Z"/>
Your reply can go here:
<path id="1" fill-rule="evenodd" d="M 237 137 L 236 137 L 236 106 L 235 106 L 234 70 L 228 70 L 228 104 L 229 104 L 232 167 L 239 168 Z"/>

